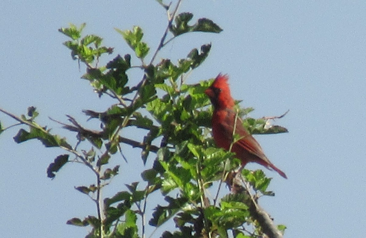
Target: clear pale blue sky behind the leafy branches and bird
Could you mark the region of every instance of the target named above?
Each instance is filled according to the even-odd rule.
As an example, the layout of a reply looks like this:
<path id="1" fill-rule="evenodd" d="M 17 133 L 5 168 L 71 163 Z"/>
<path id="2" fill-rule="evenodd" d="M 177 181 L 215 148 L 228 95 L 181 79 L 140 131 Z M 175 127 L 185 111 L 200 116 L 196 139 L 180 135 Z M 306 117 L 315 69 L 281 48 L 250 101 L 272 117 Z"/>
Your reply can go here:
<path id="1" fill-rule="evenodd" d="M 194 40 L 179 37 L 158 59 L 183 58 L 212 42 L 208 59 L 188 83 L 228 73 L 233 97 L 256 109 L 250 116 L 290 109 L 276 121 L 289 133 L 256 136 L 288 176 L 285 180 L 265 170 L 273 177 L 270 189 L 276 196 L 261 199 L 275 223 L 288 227 L 285 237 L 364 237 L 366 2 L 184 0 L 180 11 L 192 12 L 194 20 L 212 19 L 224 31 L 194 33 Z M 113 27 L 141 26 L 145 41 L 156 49 L 166 14 L 155 1 L 132 0 L 3 0 L 0 9 L 0 107 L 20 115 L 33 105 L 40 112 L 38 123 L 72 143 L 74 134 L 48 116 L 66 122 L 70 114 L 88 125 L 81 110 L 104 111 L 111 104 L 80 79 L 85 67 L 79 71 L 62 45 L 67 38 L 57 31 L 83 22 L 85 34 L 100 35 L 106 46 L 115 47 L 110 58 L 102 59 L 105 63 L 116 54 L 132 54 Z M 134 74 L 138 77 L 131 84 L 141 78 L 138 70 Z M 14 123 L 3 114 L 0 121 L 5 127 Z M 94 183 L 93 174 L 68 164 L 51 181 L 46 168 L 64 151 L 45 149 L 38 141 L 18 145 L 12 139 L 18 130 L 13 127 L 0 136 L 2 236 L 84 237 L 88 229 L 66 221 L 95 213 L 91 200 L 74 189 Z M 138 174 L 131 176 L 141 169 L 139 150 L 124 148 L 130 162 L 123 164 L 105 196 L 139 180 Z"/>

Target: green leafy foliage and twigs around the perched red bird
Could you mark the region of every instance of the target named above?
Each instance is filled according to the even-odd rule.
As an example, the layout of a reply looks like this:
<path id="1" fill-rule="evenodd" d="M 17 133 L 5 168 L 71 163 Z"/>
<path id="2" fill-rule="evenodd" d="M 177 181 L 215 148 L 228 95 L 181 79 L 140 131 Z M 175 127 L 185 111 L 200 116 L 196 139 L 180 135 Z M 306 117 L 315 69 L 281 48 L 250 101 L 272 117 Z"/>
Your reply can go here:
<path id="1" fill-rule="evenodd" d="M 132 30 L 119 30 L 127 45 L 135 55 L 116 55 L 106 65 L 99 66 L 99 58 L 113 53 L 113 47 L 102 45 L 97 35 L 85 35 L 80 27 L 70 24 L 59 31 L 69 39 L 64 45 L 71 50 L 72 59 L 86 65 L 83 79 L 90 82 L 98 96 L 112 97 L 116 104 L 103 112 L 83 111 L 90 119 L 99 120 L 100 130 L 90 130 L 81 126 L 68 116 L 70 124 L 61 123 L 66 130 L 74 131 L 79 143 L 71 146 L 66 138 L 51 134 L 46 127 L 35 122 L 36 108 L 30 107 L 27 116 L 15 116 L 1 110 L 21 124 L 29 126 L 15 135 L 14 140 L 22 143 L 38 139 L 46 147 L 60 147 L 67 154 L 57 156 L 47 169 L 50 178 L 56 176 L 64 165 L 70 162 L 85 164 L 96 176 L 96 183 L 75 187 L 88 195 L 96 203 L 96 215 L 85 218 L 72 218 L 67 224 L 90 226 L 87 237 L 145 237 L 145 216 L 147 197 L 160 191 L 165 202 L 157 204 L 148 224 L 159 227 L 173 220 L 177 231 L 165 231 L 161 237 L 262 237 L 264 229 L 253 213 L 251 199 L 255 203 L 260 196 L 274 196 L 267 190 L 270 179 L 262 170 L 243 170 L 246 191 L 232 192 L 219 196 L 221 183 L 232 186 L 228 177 L 239 166 L 234 154 L 214 147 L 209 127 L 212 115 L 208 98 L 204 91 L 211 80 L 196 84 L 186 84 L 187 73 L 200 66 L 211 49 L 211 44 L 203 44 L 199 49 L 187 53 L 187 57 L 172 62 L 168 58 L 155 63 L 157 53 L 162 47 L 179 35 L 189 32 L 219 33 L 221 28 L 212 20 L 201 18 L 189 24 L 193 14 L 178 14 L 180 1 L 173 11 L 171 5 L 159 1 L 168 11 L 166 32 L 154 53 L 143 41 L 143 31 L 134 26 Z M 172 12 L 172 13 L 171 13 Z M 170 39 L 167 39 L 171 36 Z M 151 56 L 148 64 L 144 62 Z M 137 57 L 141 65 L 132 65 L 131 58 Z M 128 70 L 141 69 L 142 79 L 137 85 L 130 85 Z M 252 108 L 240 111 L 247 115 Z M 251 133 L 281 133 L 287 131 L 280 126 L 268 127 L 270 119 L 245 118 L 244 126 Z M 59 122 L 60 123 L 60 122 Z M 141 141 L 122 137 L 126 127 L 142 128 L 146 135 Z M 6 130 L 0 124 L 0 133 Z M 82 142 L 90 143 L 89 151 L 79 150 Z M 152 168 L 141 171 L 142 181 L 126 185 L 127 189 L 114 196 L 102 199 L 101 190 L 111 179 L 120 173 L 123 166 L 109 166 L 110 161 L 121 153 L 121 143 L 141 148 L 142 163 L 146 164 L 150 153 L 156 153 Z M 74 157 L 74 159 L 71 159 Z M 149 157 L 151 158 L 151 156 Z M 216 196 L 210 200 L 207 191 L 219 185 Z M 217 187 L 217 186 L 216 186 Z M 244 187 L 243 187 L 244 188 Z M 215 188 L 216 189 L 216 188 Z M 172 197 L 178 191 L 178 197 Z M 139 225 L 142 224 L 142 225 Z M 282 231 L 285 226 L 279 227 Z"/>

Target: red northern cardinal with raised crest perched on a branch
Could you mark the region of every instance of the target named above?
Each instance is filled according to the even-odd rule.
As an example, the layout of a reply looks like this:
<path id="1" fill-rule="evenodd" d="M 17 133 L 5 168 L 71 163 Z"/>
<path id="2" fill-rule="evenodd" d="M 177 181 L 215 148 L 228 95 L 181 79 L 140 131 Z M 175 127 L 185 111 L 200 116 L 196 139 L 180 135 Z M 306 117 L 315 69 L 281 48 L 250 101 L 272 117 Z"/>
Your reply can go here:
<path id="1" fill-rule="evenodd" d="M 236 157 L 242 161 L 242 168 L 248 162 L 256 162 L 268 169 L 276 170 L 282 177 L 287 178 L 284 172 L 268 160 L 259 143 L 243 127 L 242 120 L 236 116 L 235 103 L 231 97 L 227 80 L 227 75 L 219 74 L 213 84 L 205 91 L 214 107 L 212 133 L 216 145 L 229 150 L 233 142 L 236 118 L 235 134 L 239 135 L 239 140 L 232 145 L 231 151 L 235 152 Z"/>

